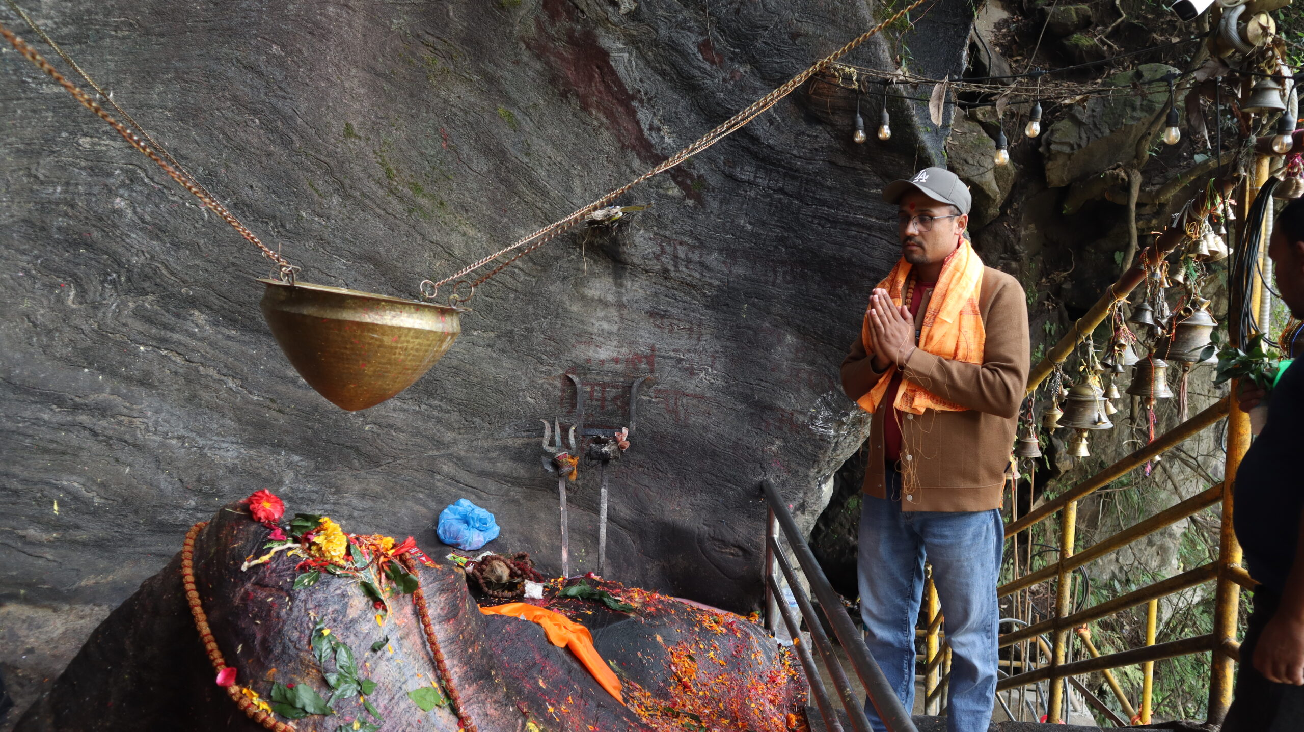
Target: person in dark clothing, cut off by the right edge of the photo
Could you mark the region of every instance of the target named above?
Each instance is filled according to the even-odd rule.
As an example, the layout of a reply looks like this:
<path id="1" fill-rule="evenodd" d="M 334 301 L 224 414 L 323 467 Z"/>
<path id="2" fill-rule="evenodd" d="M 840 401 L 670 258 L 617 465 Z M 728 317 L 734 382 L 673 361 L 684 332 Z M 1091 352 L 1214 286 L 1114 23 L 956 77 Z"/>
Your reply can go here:
<path id="1" fill-rule="evenodd" d="M 1277 218 L 1267 256 L 1282 300 L 1304 318 L 1304 198 Z M 1260 585 L 1223 732 L 1304 731 L 1304 364 L 1291 364 L 1270 394 L 1243 388 L 1240 407 L 1265 397 L 1267 421 L 1236 471 L 1236 539 Z"/>

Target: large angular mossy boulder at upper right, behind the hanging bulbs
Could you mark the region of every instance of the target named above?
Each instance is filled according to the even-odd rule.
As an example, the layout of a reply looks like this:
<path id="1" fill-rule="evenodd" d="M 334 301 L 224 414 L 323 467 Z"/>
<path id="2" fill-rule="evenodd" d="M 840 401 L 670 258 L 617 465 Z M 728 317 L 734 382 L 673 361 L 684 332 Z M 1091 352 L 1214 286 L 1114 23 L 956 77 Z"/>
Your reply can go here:
<path id="1" fill-rule="evenodd" d="M 1103 82 L 1108 86 L 1142 86 L 1123 97 L 1093 97 L 1050 125 L 1042 134 L 1046 184 L 1059 188 L 1134 159 L 1137 144 L 1168 102 L 1168 87 L 1150 82 L 1176 70 L 1166 64 L 1144 64 L 1136 72 L 1108 77 Z"/>

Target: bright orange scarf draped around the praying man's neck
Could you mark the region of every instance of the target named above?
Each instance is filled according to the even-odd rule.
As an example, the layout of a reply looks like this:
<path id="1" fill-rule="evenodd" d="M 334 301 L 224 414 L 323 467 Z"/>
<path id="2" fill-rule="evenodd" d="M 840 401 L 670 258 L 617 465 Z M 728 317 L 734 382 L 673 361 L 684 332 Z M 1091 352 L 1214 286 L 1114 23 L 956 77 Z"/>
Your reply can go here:
<path id="1" fill-rule="evenodd" d="M 901 305 L 902 288 L 910 274 L 910 264 L 905 258 L 897 260 L 888 277 L 878 283 L 875 288 L 888 291 L 888 296 L 896 305 Z M 987 344 L 987 330 L 983 328 L 982 312 L 978 309 L 978 295 L 982 291 L 983 264 L 974 252 L 973 244 L 961 239 L 960 245 L 952 252 L 941 265 L 941 274 L 938 275 L 938 284 L 932 290 L 928 300 L 928 311 L 923 316 L 923 325 L 919 329 L 918 347 L 922 351 L 970 364 L 982 364 L 983 348 Z M 866 308 L 865 322 L 861 325 L 861 339 L 866 352 L 870 350 L 870 313 Z M 879 382 L 855 403 L 867 412 L 878 410 L 883 401 L 888 385 L 892 382 L 892 373 L 896 364 L 879 378 Z M 893 406 L 904 412 L 923 414 L 923 410 L 939 410 L 948 412 L 965 411 L 955 402 L 949 402 L 928 391 L 923 386 L 901 380 Z"/>

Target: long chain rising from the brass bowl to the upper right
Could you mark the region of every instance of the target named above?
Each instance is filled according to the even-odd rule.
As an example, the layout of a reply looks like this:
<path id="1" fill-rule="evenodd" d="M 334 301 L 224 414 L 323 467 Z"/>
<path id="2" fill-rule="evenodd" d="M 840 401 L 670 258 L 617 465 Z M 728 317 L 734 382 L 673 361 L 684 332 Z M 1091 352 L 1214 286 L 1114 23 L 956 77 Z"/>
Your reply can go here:
<path id="1" fill-rule="evenodd" d="M 906 16 L 906 13 L 909 13 L 910 10 L 918 8 L 921 4 L 923 4 L 923 0 L 914 0 L 914 3 L 911 3 L 910 5 L 906 5 L 905 8 L 902 8 L 901 10 L 898 10 L 896 14 L 893 14 L 891 18 L 880 22 L 879 25 L 876 25 L 876 26 L 871 27 L 870 30 L 862 33 L 861 35 L 853 38 L 850 42 L 848 42 L 845 46 L 842 46 L 837 51 L 833 51 L 832 53 L 829 53 L 828 56 L 820 59 L 819 61 L 816 61 L 814 65 L 811 65 L 806 70 L 803 70 L 799 74 L 794 76 L 793 78 L 788 80 L 778 89 L 775 89 L 769 94 L 765 94 L 760 99 L 752 102 L 747 108 L 745 108 L 741 112 L 738 112 L 737 115 L 729 117 L 728 120 L 725 120 L 724 123 L 721 123 L 719 127 L 716 127 L 711 132 L 708 132 L 708 133 L 703 134 L 702 137 L 699 137 L 695 142 L 692 142 L 691 145 L 689 145 L 683 150 L 679 150 L 678 153 L 675 153 L 670 158 L 666 158 L 664 162 L 661 162 L 660 164 L 657 164 L 655 168 L 652 168 L 648 172 L 640 175 L 639 177 L 634 179 L 632 181 L 630 181 L 630 183 L 627 183 L 627 184 L 625 184 L 625 185 L 622 185 L 622 187 L 619 187 L 619 188 L 617 188 L 617 189 L 606 193 L 605 196 L 602 196 L 601 198 L 593 201 L 592 204 L 589 204 L 589 205 L 587 205 L 587 206 L 584 206 L 582 209 L 575 210 L 569 217 L 566 217 L 566 218 L 563 218 L 561 221 L 556 221 L 556 222 L 553 222 L 553 223 L 550 223 L 550 224 L 540 228 L 539 231 L 535 231 L 533 234 L 529 234 L 529 235 L 519 239 L 516 243 L 514 243 L 514 244 L 511 244 L 509 247 L 503 247 L 502 249 L 494 252 L 493 254 L 489 254 L 488 257 L 481 257 L 480 260 L 476 260 L 475 262 L 472 262 L 472 264 L 462 267 L 460 270 L 455 271 L 454 274 L 451 274 L 451 275 L 449 275 L 449 277 L 446 277 L 446 278 L 443 278 L 443 279 L 441 279 L 438 282 L 430 282 L 429 279 L 422 281 L 421 282 L 421 295 L 424 297 L 426 297 L 426 299 L 434 299 L 434 296 L 438 294 L 441 286 L 447 284 L 447 283 L 454 282 L 454 281 L 459 281 L 460 278 L 466 277 L 467 274 L 471 274 L 472 271 L 475 271 L 475 270 L 477 270 L 477 269 L 480 269 L 480 267 L 482 267 L 482 266 L 493 262 L 498 257 L 501 257 L 501 256 L 503 256 L 503 254 L 506 254 L 509 252 L 512 252 L 512 251 L 516 251 L 516 249 L 522 249 L 524 247 L 524 249 L 522 249 L 520 252 L 518 252 L 514 257 L 511 257 L 510 260 L 506 260 L 505 262 L 499 264 L 492 271 L 489 271 L 488 274 L 480 277 L 473 283 L 471 283 L 471 292 L 472 292 L 472 296 L 473 296 L 476 287 L 479 287 L 480 284 L 484 284 L 485 282 L 488 282 L 490 278 L 493 278 L 496 274 L 498 274 L 499 271 L 502 271 L 503 269 L 506 269 L 507 266 L 510 266 L 512 262 L 515 262 L 520 257 L 524 257 L 526 254 L 533 252 L 535 249 L 537 249 L 539 247 L 544 245 L 549 240 L 557 237 L 563 231 L 566 231 L 570 227 L 575 226 L 585 215 L 588 215 L 588 214 L 593 213 L 595 210 L 597 210 L 597 209 L 600 209 L 600 207 L 610 204 L 612 201 L 614 201 L 619 196 L 625 194 L 627 191 L 630 191 L 635 185 L 643 183 L 644 180 L 647 180 L 647 179 L 649 179 L 649 177 L 652 177 L 655 175 L 662 174 L 662 172 L 665 172 L 665 171 L 675 167 L 675 166 L 678 166 L 679 163 L 682 163 L 687 158 L 690 158 L 690 157 L 692 157 L 692 155 L 695 155 L 698 153 L 702 153 L 703 150 L 705 150 L 707 147 L 711 147 L 712 145 L 715 145 L 716 142 L 724 140 L 729 134 L 732 134 L 732 133 L 742 129 L 743 125 L 746 125 L 747 123 L 750 123 L 758 115 L 760 115 L 762 112 L 765 112 L 767 110 L 769 110 L 771 107 L 773 107 L 775 104 L 777 104 L 780 99 L 782 99 L 784 97 L 788 97 L 789 94 L 792 94 L 795 89 L 798 89 L 802 84 L 805 84 L 806 80 L 808 80 L 810 77 L 815 76 L 816 73 L 824 70 L 829 64 L 832 64 L 833 61 L 837 61 L 838 59 L 841 59 L 842 56 L 845 56 L 846 53 L 849 53 L 857 46 L 865 43 L 866 40 L 868 40 L 874 35 L 878 35 L 883 29 L 885 29 L 885 27 L 891 26 L 892 23 L 897 22 L 898 20 L 904 18 Z M 467 299 L 469 299 L 469 296 Z"/>

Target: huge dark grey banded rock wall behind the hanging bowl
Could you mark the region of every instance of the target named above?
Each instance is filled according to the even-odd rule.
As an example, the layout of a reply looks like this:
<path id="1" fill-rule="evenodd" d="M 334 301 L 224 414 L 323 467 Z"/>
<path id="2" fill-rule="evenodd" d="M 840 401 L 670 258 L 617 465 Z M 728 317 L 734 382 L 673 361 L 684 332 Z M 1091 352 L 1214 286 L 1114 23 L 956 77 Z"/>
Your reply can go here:
<path id="1" fill-rule="evenodd" d="M 816 1 L 25 7 L 304 281 L 403 296 L 880 20 Z M 911 68 L 958 73 L 969 13 L 917 18 Z M 876 39 L 848 60 L 888 53 Z M 626 227 L 563 236 L 481 287 L 429 374 L 349 414 L 273 342 L 253 282 L 267 262 L 0 50 L 0 599 L 115 605 L 192 522 L 257 488 L 424 541 L 467 497 L 498 515 L 490 548 L 556 572 L 539 420 L 569 418 L 575 373 L 593 427 L 619 427 L 622 390 L 657 378 L 610 472 L 610 574 L 756 607 L 756 480 L 780 480 L 808 527 L 863 435 L 837 364 L 896 256 L 878 191 L 941 155 L 914 107 L 891 145 L 852 149 L 846 127 L 780 103 L 627 194 L 652 207 Z M 597 569 L 596 478 L 583 466 L 570 496 L 580 570 Z"/>

